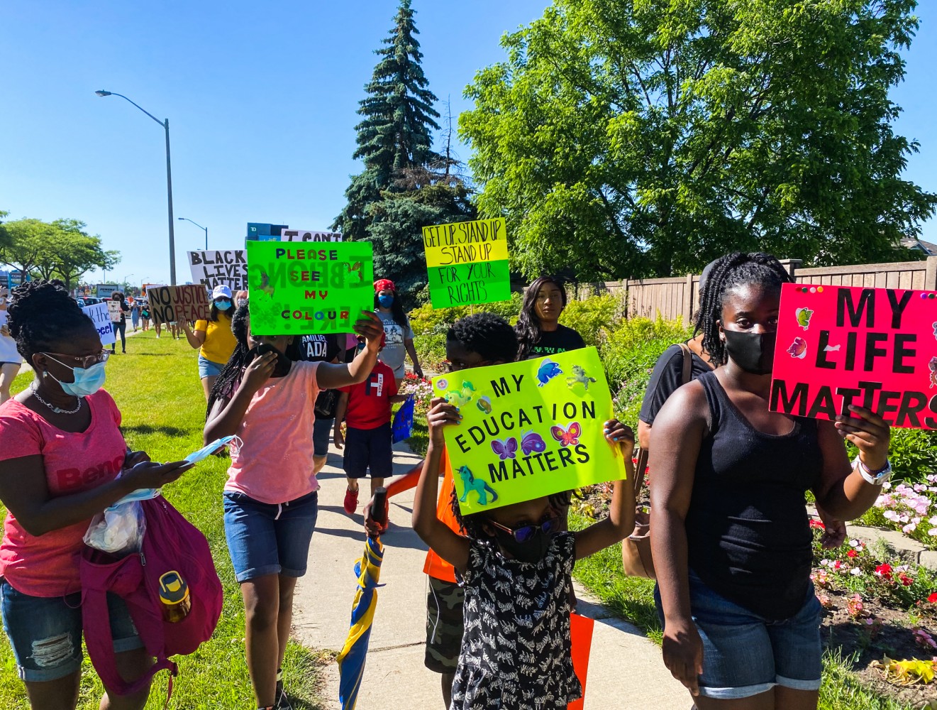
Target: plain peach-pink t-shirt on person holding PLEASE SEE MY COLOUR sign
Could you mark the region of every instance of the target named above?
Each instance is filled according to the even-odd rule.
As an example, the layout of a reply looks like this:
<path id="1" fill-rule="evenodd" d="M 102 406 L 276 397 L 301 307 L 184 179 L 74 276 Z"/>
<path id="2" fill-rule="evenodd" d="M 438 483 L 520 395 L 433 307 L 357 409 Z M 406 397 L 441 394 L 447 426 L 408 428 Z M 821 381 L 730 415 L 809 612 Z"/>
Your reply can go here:
<path id="1" fill-rule="evenodd" d="M 312 473 L 318 362 L 294 362 L 286 377 L 272 377 L 247 405 L 231 451 L 225 491 L 280 504 L 319 490 Z"/>

